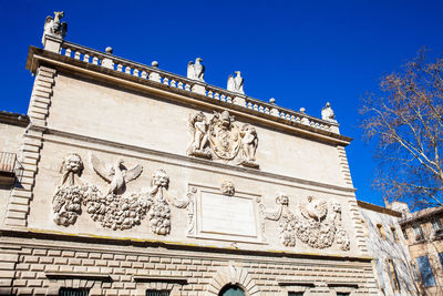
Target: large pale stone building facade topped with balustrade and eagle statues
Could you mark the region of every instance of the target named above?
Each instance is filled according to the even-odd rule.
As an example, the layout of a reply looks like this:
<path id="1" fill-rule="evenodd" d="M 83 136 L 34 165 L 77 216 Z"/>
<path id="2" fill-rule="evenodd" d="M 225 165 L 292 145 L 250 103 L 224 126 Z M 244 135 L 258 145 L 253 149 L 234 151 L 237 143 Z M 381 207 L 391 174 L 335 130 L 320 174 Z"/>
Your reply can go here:
<path id="1" fill-rule="evenodd" d="M 377 294 L 329 104 L 317 119 L 245 95 L 239 71 L 225 90 L 198 59 L 185 78 L 78 45 L 62 17 L 29 50 L 3 294 Z"/>

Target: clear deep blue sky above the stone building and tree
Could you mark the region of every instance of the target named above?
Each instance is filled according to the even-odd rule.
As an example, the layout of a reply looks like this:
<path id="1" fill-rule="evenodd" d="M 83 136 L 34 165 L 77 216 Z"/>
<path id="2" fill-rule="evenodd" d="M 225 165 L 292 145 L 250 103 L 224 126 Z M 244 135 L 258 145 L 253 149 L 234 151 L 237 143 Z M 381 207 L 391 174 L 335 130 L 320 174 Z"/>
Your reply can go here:
<path id="1" fill-rule="evenodd" d="M 7 1 L 2 30 L 0 110 L 25 113 L 33 79 L 28 47 L 41 47 L 44 19 L 65 12 L 66 40 L 186 74 L 204 59 L 205 80 L 226 88 L 240 70 L 256 99 L 320 116 L 327 101 L 347 147 L 357 197 L 382 204 L 371 188 L 371 145 L 362 142 L 360 99 L 380 78 L 427 47 L 443 51 L 443 1 Z"/>

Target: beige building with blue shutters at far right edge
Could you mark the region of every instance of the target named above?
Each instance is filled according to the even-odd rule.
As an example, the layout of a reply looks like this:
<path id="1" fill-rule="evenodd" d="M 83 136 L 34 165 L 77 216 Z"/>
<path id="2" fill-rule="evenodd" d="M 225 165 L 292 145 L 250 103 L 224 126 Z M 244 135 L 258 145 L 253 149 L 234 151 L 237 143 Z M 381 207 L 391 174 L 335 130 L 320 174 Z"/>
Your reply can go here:
<path id="1" fill-rule="evenodd" d="M 443 207 L 424 208 L 400 221 L 424 295 L 443 295 Z"/>

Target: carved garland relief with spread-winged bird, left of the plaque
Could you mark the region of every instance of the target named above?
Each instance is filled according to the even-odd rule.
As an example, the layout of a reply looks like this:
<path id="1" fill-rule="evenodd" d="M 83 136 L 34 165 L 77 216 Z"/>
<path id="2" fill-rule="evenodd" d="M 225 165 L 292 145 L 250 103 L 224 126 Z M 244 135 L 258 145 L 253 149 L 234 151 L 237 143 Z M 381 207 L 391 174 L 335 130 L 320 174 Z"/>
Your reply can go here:
<path id="1" fill-rule="evenodd" d="M 107 186 L 101 191 L 86 184 L 81 174 L 83 162 L 79 154 L 68 154 L 62 165 L 62 181 L 53 200 L 53 220 L 58 225 L 69 226 L 82 214 L 82 205 L 93 221 L 112 229 L 128 229 L 140 225 L 147 215 L 153 233 L 167 235 L 171 232 L 171 208 L 167 196 L 169 177 L 163 170 L 152 175 L 151 187 L 126 193 L 127 184 L 143 172 L 137 164 L 126 169 L 122 160 L 106 164 L 95 155 L 90 155 L 94 172 Z"/>

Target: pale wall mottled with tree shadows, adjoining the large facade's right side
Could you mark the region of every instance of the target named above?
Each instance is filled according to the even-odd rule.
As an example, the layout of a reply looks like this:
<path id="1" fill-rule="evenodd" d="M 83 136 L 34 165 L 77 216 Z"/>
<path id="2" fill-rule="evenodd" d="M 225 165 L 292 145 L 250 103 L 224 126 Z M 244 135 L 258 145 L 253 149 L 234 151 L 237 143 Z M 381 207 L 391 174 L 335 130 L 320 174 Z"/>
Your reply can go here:
<path id="1" fill-rule="evenodd" d="M 416 273 L 399 221 L 402 213 L 358 201 L 379 295 L 419 295 Z"/>

